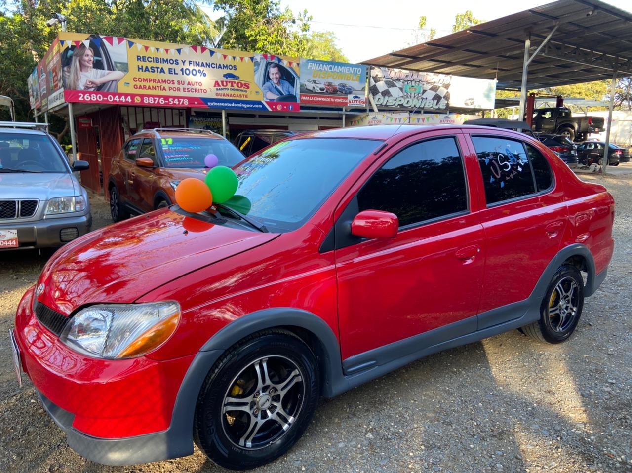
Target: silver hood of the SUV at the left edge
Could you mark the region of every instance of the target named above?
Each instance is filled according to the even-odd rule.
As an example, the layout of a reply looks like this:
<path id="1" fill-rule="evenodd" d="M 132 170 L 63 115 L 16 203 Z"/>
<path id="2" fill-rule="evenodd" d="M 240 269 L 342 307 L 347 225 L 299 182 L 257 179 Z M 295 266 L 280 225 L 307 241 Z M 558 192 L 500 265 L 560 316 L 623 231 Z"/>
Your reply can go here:
<path id="1" fill-rule="evenodd" d="M 0 173 L 3 199 L 39 199 L 79 195 L 70 173 Z"/>

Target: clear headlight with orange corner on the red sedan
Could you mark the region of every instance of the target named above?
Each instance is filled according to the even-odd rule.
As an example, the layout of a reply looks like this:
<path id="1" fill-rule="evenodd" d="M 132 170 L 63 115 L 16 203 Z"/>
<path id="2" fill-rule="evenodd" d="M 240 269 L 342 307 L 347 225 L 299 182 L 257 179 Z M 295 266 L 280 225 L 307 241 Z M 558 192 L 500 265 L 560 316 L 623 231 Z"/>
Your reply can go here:
<path id="1" fill-rule="evenodd" d="M 139 357 L 173 335 L 180 321 L 178 302 L 98 304 L 80 310 L 59 339 L 91 357 Z"/>

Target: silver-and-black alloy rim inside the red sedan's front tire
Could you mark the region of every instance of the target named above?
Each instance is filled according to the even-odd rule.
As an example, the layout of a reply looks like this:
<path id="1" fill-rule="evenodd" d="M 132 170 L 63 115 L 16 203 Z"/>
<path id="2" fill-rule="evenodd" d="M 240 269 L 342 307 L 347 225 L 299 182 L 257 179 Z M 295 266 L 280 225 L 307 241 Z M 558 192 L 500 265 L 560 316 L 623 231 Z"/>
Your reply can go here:
<path id="1" fill-rule="evenodd" d="M 229 440 L 255 450 L 281 438 L 303 407 L 303 378 L 293 361 L 278 355 L 245 367 L 222 402 L 222 427 Z"/>

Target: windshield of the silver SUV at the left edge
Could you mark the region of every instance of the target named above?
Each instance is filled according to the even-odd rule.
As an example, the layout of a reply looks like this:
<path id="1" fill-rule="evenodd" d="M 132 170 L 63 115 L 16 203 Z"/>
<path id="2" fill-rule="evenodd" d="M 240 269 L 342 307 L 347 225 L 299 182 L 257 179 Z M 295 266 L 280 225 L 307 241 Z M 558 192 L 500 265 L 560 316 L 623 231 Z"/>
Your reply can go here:
<path id="1" fill-rule="evenodd" d="M 64 159 L 47 135 L 0 133 L 0 173 L 68 173 Z"/>

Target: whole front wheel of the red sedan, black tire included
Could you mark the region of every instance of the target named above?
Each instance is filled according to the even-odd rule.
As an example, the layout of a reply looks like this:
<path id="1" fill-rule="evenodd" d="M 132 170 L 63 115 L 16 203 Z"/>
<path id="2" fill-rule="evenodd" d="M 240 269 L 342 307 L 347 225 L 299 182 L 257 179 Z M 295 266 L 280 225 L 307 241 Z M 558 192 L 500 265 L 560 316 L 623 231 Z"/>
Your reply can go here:
<path id="1" fill-rule="evenodd" d="M 207 375 L 195 410 L 195 443 L 233 470 L 272 462 L 301 438 L 319 393 L 316 359 L 300 338 L 283 330 L 249 336 Z"/>

